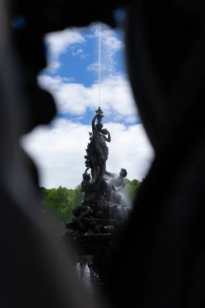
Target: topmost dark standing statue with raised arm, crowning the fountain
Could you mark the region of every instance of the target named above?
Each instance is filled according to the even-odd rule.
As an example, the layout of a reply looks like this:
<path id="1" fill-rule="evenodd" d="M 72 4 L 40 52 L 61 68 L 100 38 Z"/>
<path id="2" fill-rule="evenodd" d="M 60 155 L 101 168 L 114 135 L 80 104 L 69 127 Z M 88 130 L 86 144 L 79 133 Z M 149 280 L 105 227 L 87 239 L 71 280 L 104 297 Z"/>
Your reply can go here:
<path id="1" fill-rule="evenodd" d="M 95 111 L 96 114 L 92 120 L 92 133 L 90 132 L 90 143 L 87 148 L 86 167 L 91 168 L 92 179 L 96 183 L 100 183 L 104 180 L 106 171 L 106 161 L 108 159 L 108 147 L 106 142 L 111 141 L 110 132 L 107 129 L 103 129 L 101 119 L 104 117 L 103 111 L 98 108 Z M 97 124 L 95 125 L 95 120 Z M 106 137 L 108 135 L 108 138 Z"/>

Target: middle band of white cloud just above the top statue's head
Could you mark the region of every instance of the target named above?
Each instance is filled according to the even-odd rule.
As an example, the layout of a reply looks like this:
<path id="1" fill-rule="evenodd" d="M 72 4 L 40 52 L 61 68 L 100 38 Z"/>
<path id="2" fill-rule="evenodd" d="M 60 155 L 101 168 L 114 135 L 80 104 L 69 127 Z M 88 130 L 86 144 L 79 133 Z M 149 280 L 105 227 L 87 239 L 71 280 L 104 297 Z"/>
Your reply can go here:
<path id="1" fill-rule="evenodd" d="M 40 87 L 53 94 L 57 109 L 60 113 L 84 115 L 87 108 L 96 110 L 99 102 L 99 85 L 85 87 L 83 84 L 65 83 L 59 76 L 52 78 L 48 75 L 38 76 Z M 112 76 L 101 80 L 100 107 L 107 115 L 138 118 L 136 104 L 130 83 L 125 75 Z M 127 119 L 125 119 L 127 122 Z M 129 122 L 132 122 L 129 120 Z"/>

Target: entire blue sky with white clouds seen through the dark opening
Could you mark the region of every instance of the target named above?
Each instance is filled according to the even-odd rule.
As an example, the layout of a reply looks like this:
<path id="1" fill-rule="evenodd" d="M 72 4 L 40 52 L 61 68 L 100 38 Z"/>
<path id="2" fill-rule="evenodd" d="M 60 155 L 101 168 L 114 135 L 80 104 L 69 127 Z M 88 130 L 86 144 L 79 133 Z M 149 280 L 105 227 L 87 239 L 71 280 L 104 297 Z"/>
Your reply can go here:
<path id="1" fill-rule="evenodd" d="M 134 102 L 126 74 L 122 32 L 100 25 L 100 107 L 111 133 L 107 170 L 126 168 L 141 180 L 153 149 Z M 74 188 L 85 171 L 91 120 L 99 106 L 99 24 L 45 36 L 48 66 L 39 87 L 52 93 L 58 113 L 49 127 L 39 126 L 22 140 L 38 166 L 40 185 Z"/>

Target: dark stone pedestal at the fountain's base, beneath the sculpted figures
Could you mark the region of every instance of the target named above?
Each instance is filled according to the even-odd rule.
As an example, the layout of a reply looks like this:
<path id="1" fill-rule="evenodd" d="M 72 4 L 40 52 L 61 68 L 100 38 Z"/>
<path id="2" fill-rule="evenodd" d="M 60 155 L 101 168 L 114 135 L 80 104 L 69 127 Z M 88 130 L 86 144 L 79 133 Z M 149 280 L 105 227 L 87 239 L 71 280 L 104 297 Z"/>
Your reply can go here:
<path id="1" fill-rule="evenodd" d="M 93 216 L 84 218 L 80 222 L 80 227 L 76 220 L 66 224 L 71 230 L 67 236 L 74 245 L 77 261 L 81 266 L 88 264 L 92 273 L 99 276 L 99 279 L 95 279 L 96 288 L 102 287 L 101 282 L 104 281 L 107 272 L 115 237 L 124 226 L 118 217 L 119 213 L 121 215 L 121 209 L 118 210 L 113 204 L 110 207 L 112 208 L 106 210 L 109 215 L 101 215 L 100 218 Z M 124 213 L 126 215 L 125 209 Z M 127 218 L 126 216 L 124 220 L 127 221 Z"/>

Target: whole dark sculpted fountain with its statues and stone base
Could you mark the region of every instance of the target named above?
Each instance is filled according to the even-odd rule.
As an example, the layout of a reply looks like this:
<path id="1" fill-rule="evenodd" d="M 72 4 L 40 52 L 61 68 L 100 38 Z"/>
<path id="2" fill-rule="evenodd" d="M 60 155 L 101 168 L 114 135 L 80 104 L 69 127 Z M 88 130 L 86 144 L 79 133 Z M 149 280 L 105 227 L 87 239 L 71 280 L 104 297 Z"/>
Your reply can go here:
<path id="1" fill-rule="evenodd" d="M 103 117 L 103 111 L 99 107 L 92 120 L 90 143 L 86 149 L 86 170 L 81 182 L 81 192 L 85 194 L 84 200 L 73 209 L 72 221 L 66 223 L 69 229 L 67 236 L 77 252 L 79 264 L 76 272 L 78 276 L 80 271 L 83 271 L 87 278 L 89 276 L 87 287 L 90 287 L 88 285 L 91 276 L 96 278 L 99 275 L 99 279 L 104 280 L 113 243 L 130 214 L 130 207 L 119 194 L 125 186 L 126 169 L 121 169 L 119 176 L 106 170 L 108 159 L 106 142 L 111 142 L 111 136 L 107 129 L 103 129 L 101 123 Z M 88 174 L 89 169 L 91 174 Z M 97 288 L 98 282 L 95 283 Z"/>

